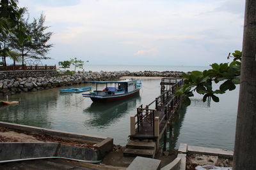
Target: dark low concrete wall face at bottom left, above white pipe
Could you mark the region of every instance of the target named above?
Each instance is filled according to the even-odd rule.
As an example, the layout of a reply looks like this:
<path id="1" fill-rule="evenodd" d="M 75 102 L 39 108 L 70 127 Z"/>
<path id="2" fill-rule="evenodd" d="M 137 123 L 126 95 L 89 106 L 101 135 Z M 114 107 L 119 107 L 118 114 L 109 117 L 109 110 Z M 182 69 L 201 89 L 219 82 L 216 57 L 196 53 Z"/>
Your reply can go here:
<path id="1" fill-rule="evenodd" d="M 60 143 L 0 143 L 0 148 L 0 160 L 36 157 L 100 160 L 97 150 Z"/>

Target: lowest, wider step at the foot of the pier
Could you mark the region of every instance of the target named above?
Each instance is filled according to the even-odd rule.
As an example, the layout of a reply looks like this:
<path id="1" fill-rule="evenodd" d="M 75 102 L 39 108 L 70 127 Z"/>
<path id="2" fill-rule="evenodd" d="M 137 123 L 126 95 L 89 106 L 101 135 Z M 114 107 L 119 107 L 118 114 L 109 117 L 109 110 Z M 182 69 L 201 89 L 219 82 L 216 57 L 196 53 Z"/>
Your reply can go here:
<path id="1" fill-rule="evenodd" d="M 155 150 L 125 148 L 124 156 L 125 157 L 141 156 L 141 157 L 154 158 L 155 157 Z"/>

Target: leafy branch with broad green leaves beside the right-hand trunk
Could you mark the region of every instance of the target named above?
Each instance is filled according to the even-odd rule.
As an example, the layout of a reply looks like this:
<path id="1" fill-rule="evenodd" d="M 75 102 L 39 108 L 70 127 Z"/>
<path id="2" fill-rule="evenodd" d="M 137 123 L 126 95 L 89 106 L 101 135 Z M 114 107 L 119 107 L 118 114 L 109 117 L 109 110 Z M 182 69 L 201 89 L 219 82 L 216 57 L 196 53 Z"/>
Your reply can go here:
<path id="1" fill-rule="evenodd" d="M 182 95 L 186 105 L 191 103 L 189 97 L 194 96 L 193 92 L 204 95 L 204 102 L 207 97 L 211 97 L 214 102 L 219 102 L 220 99 L 215 94 L 223 94 L 227 90 L 234 90 L 236 84 L 240 83 L 241 56 L 242 52 L 236 50 L 232 53 L 232 56 L 230 56 L 230 53 L 228 54 L 228 59 L 234 58 L 230 63 L 214 63 L 210 65 L 212 68 L 209 70 L 192 71 L 189 74 L 183 73 L 184 85 L 177 89 L 175 96 Z M 212 82 L 221 82 L 220 89 L 212 90 Z"/>

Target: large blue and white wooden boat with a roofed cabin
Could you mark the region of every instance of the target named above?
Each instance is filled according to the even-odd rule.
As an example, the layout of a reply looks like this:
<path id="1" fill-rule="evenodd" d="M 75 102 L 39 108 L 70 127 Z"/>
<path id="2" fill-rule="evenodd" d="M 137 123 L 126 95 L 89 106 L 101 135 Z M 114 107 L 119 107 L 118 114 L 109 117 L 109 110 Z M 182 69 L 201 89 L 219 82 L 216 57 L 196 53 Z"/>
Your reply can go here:
<path id="1" fill-rule="evenodd" d="M 141 83 L 139 81 L 137 83 L 133 78 L 123 81 L 90 81 L 90 83 L 96 83 L 96 90 L 82 95 L 83 97 L 90 97 L 93 102 L 109 102 L 124 99 L 125 97 L 138 94 L 141 89 Z M 106 88 L 97 90 L 99 83 L 106 84 Z"/>

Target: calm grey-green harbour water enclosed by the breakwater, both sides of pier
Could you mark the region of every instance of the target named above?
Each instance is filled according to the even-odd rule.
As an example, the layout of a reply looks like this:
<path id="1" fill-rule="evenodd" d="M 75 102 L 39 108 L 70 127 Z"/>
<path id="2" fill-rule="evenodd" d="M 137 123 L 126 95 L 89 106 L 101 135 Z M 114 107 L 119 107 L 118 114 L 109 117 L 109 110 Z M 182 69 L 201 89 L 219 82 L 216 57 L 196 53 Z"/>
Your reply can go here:
<path id="1" fill-rule="evenodd" d="M 148 104 L 159 96 L 159 83 L 160 80 L 142 80 L 140 95 L 114 103 L 92 103 L 81 94 L 60 94 L 60 88 L 9 96 L 10 101 L 20 99 L 21 103 L 0 108 L 0 120 L 111 137 L 115 144 L 125 145 L 129 135 L 129 117 L 136 114 L 136 107 L 140 104 Z M 90 84 L 74 87 L 87 85 Z M 188 143 L 233 150 L 238 93 L 236 89 L 221 95 L 220 103 L 203 103 L 201 96 L 195 96 L 191 106 L 180 110 L 179 120 L 173 127 L 173 137 L 168 138 L 168 148 Z"/>

